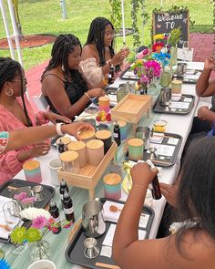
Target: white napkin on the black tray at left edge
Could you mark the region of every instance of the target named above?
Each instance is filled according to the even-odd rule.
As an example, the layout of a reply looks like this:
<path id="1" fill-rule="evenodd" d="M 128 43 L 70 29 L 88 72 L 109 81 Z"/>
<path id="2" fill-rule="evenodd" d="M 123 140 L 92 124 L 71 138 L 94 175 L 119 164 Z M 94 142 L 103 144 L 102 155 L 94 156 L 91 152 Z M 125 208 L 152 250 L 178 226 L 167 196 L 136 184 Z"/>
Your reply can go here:
<path id="1" fill-rule="evenodd" d="M 7 224 L 5 222 L 5 215 L 3 212 L 3 205 L 5 204 L 5 202 L 10 202 L 11 199 L 7 198 L 5 196 L 0 195 L 0 224 L 5 225 Z M 14 218 L 15 222 L 13 224 L 7 224 L 10 228 L 14 228 L 18 223 L 19 223 L 19 218 Z M 0 227 L 0 238 L 3 239 L 8 239 L 8 235 L 11 232 L 6 231 L 4 228 Z"/>

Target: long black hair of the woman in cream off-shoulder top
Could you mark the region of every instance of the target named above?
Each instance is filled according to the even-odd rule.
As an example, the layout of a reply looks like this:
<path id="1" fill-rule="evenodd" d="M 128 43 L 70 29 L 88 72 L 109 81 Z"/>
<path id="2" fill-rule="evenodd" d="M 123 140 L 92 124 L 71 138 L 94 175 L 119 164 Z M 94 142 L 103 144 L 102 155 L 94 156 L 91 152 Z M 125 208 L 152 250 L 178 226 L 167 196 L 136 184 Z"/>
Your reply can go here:
<path id="1" fill-rule="evenodd" d="M 96 17 L 90 24 L 89 32 L 87 36 L 87 42 L 88 44 L 96 44 L 98 55 L 99 55 L 99 65 L 103 67 L 106 64 L 106 58 L 105 58 L 105 29 L 106 26 L 110 25 L 112 29 L 114 30 L 114 26 L 111 24 L 111 22 L 105 18 L 105 17 Z M 111 42 L 111 45 L 109 46 L 110 56 L 114 56 L 114 48 L 113 48 L 113 41 Z"/>

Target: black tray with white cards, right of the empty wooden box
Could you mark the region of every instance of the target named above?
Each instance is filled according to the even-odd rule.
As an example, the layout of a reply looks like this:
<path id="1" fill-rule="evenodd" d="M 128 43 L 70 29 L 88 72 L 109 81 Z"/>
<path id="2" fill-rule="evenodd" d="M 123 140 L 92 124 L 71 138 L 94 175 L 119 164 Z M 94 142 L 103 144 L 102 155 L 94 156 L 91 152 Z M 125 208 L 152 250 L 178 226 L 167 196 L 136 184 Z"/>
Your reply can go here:
<path id="1" fill-rule="evenodd" d="M 154 112 L 164 113 L 164 114 L 186 115 L 186 114 L 189 114 L 191 109 L 193 109 L 194 102 L 195 102 L 195 97 L 193 95 L 182 94 L 179 100 L 172 100 L 169 106 L 163 107 L 163 106 L 160 106 L 159 97 L 158 97 L 152 107 L 152 110 Z"/>

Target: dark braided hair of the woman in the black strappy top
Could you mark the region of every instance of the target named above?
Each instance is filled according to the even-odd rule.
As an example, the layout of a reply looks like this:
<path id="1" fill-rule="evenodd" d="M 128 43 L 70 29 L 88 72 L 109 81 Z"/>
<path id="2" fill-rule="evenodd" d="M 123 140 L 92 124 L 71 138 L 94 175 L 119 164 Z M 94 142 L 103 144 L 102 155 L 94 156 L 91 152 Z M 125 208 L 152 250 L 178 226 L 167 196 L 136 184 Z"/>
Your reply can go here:
<path id="1" fill-rule="evenodd" d="M 66 78 L 70 77 L 71 70 L 68 67 L 68 55 L 74 51 L 76 46 L 81 47 L 81 43 L 77 36 L 72 34 L 57 36 L 52 47 L 51 59 L 42 75 L 41 80 L 43 80 L 45 77 L 46 71 L 49 71 L 58 65 L 62 67 Z"/>

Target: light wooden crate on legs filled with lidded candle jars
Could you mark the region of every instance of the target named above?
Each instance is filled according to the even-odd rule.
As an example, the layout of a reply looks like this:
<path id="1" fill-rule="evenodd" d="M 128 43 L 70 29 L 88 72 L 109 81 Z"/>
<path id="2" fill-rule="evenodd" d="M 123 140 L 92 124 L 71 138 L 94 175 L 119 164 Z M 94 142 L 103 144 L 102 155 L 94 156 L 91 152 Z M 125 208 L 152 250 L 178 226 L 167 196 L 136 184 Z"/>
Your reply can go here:
<path id="1" fill-rule="evenodd" d="M 113 142 L 110 149 L 107 151 L 104 158 L 101 160 L 98 166 L 92 166 L 87 164 L 85 167 L 80 169 L 80 172 L 73 173 L 63 171 L 60 168 L 58 173 L 58 181 L 67 181 L 68 185 L 72 185 L 78 188 L 87 189 L 89 194 L 89 200 L 95 199 L 95 188 L 97 182 L 100 180 L 103 173 L 106 171 L 109 162 L 114 158 L 117 151 L 117 144 Z"/>

